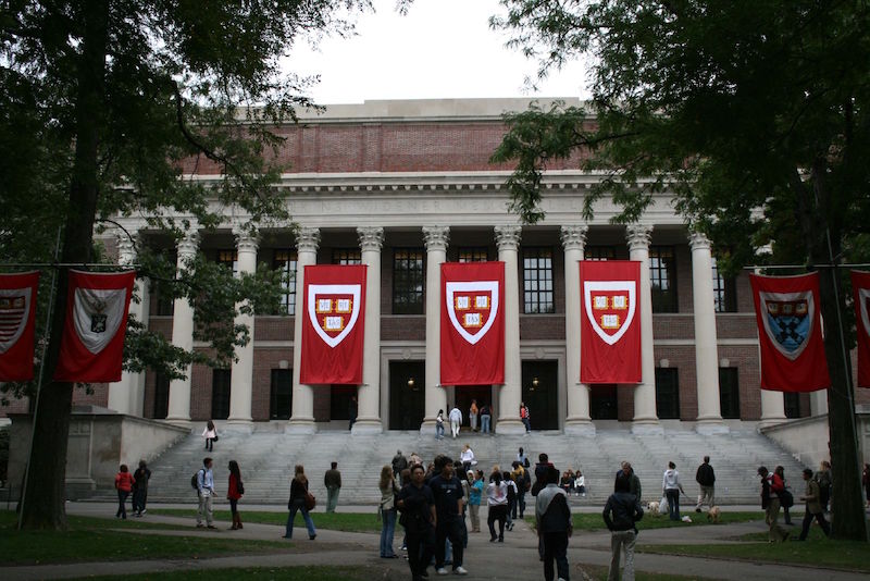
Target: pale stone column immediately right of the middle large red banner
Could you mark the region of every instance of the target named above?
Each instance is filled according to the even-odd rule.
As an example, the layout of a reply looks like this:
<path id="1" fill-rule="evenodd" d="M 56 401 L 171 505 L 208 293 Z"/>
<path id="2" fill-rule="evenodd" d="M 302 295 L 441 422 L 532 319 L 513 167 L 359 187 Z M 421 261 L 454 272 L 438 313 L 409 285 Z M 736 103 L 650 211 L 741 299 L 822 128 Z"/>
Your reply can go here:
<path id="1" fill-rule="evenodd" d="M 498 393 L 499 434 L 523 434 L 520 421 L 522 401 L 522 358 L 520 356 L 520 226 L 495 226 L 498 259 L 505 262 L 505 385 Z M 534 422 L 534 418 L 532 419 Z M 533 424 L 534 425 L 534 424 Z"/>

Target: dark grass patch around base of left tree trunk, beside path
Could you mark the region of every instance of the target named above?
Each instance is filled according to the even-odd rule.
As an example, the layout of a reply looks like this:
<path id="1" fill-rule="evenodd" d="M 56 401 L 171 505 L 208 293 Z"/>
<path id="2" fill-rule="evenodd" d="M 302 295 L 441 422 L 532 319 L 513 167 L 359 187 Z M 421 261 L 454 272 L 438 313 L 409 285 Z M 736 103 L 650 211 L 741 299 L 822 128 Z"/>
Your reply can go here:
<path id="1" fill-rule="evenodd" d="M 220 539 L 208 532 L 190 536 L 137 535 L 132 539 L 113 529 L 167 528 L 163 524 L 67 516 L 69 530 L 21 531 L 15 529 L 15 514 L 0 511 L 0 546 L 7 565 L 45 565 L 51 563 L 107 561 L 150 558 L 197 558 L 240 554 L 268 554 L 284 551 L 290 543 Z M 172 528 L 172 527 L 169 527 Z"/>

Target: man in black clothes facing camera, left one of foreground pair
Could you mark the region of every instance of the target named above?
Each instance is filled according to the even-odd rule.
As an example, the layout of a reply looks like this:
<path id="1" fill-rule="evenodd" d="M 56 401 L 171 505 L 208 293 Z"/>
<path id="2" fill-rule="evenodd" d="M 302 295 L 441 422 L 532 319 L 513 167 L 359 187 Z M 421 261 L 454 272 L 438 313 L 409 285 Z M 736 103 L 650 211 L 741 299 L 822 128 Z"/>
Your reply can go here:
<path id="1" fill-rule="evenodd" d="M 396 506 L 401 511 L 408 547 L 408 566 L 412 581 L 428 579 L 426 569 L 435 548 L 435 496 L 425 483 L 426 469 L 422 463 L 411 466 L 411 482 L 399 491 Z M 444 551 L 444 549 L 442 549 Z"/>

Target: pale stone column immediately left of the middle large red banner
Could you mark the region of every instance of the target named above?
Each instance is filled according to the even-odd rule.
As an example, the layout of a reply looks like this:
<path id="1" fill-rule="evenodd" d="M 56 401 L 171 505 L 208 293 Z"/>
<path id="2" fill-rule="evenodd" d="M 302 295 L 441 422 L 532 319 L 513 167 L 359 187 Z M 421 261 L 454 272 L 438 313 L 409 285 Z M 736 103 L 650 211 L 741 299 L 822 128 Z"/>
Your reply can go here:
<path id="1" fill-rule="evenodd" d="M 434 433 L 435 417 L 447 408 L 447 393 L 442 386 L 442 263 L 447 260 L 448 226 L 423 227 L 426 243 L 426 412 L 421 432 Z"/>

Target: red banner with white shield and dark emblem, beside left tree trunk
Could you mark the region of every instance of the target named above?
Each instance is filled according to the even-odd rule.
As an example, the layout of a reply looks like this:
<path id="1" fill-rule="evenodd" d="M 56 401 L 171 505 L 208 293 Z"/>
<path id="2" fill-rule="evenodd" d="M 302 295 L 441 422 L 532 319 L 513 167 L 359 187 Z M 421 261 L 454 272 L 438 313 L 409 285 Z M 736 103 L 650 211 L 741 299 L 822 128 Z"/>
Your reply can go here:
<path id="1" fill-rule="evenodd" d="M 66 321 L 55 381 L 121 381 L 127 312 L 136 273 L 70 271 Z"/>

